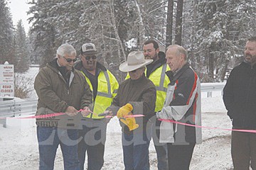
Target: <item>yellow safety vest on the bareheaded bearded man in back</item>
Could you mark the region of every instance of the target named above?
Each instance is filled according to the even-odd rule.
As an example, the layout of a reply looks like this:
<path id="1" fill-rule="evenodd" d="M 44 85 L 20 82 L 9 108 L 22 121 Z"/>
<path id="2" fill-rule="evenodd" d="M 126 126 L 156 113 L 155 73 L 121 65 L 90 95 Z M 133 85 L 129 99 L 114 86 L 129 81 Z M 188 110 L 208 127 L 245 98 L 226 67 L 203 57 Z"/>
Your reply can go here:
<path id="1" fill-rule="evenodd" d="M 169 78 L 165 74 L 165 72 L 169 71 L 170 68 L 167 66 L 167 64 L 161 65 L 161 67 L 154 70 L 149 75 L 149 79 L 154 83 L 156 86 L 156 108 L 155 112 L 161 111 L 161 109 L 164 106 L 164 101 L 166 98 L 166 92 L 168 84 L 170 83 Z M 145 70 L 146 74 L 146 70 Z M 127 74 L 127 77 L 125 79 L 129 79 L 129 74 Z"/>

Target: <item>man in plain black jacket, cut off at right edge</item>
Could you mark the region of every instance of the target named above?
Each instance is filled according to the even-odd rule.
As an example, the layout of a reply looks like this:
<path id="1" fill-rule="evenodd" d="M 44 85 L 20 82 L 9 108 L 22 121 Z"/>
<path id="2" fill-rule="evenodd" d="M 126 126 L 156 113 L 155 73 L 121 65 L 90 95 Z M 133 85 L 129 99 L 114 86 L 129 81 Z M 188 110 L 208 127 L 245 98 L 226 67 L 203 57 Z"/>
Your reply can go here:
<path id="1" fill-rule="evenodd" d="M 223 101 L 233 129 L 256 130 L 256 37 L 245 45 L 245 60 L 235 67 L 223 90 Z M 232 132 L 234 170 L 256 169 L 256 134 Z"/>

